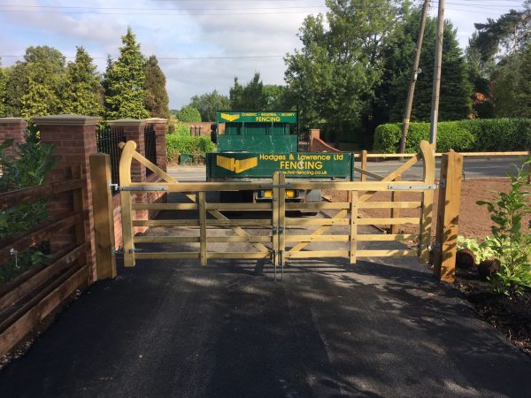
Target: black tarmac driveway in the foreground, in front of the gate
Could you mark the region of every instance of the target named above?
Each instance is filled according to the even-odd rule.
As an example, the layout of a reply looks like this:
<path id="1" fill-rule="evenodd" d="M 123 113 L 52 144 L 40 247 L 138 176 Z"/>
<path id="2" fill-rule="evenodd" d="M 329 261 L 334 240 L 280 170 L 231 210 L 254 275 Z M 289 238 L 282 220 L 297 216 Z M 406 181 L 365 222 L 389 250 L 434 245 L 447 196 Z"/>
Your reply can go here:
<path id="1" fill-rule="evenodd" d="M 411 257 L 301 260 L 282 282 L 265 261 L 142 260 L 73 302 L 0 396 L 524 397 L 530 374 Z"/>

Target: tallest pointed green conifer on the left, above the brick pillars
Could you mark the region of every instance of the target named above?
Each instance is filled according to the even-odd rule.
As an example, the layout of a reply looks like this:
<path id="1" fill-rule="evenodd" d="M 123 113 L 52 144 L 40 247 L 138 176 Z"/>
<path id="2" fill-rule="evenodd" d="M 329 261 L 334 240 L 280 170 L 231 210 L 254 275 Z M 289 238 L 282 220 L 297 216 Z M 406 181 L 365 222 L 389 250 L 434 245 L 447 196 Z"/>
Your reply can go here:
<path id="1" fill-rule="evenodd" d="M 122 36 L 122 43 L 118 59 L 107 68 L 104 77 L 106 119 L 145 119 L 150 116 L 145 109 L 146 60 L 130 27 Z"/>

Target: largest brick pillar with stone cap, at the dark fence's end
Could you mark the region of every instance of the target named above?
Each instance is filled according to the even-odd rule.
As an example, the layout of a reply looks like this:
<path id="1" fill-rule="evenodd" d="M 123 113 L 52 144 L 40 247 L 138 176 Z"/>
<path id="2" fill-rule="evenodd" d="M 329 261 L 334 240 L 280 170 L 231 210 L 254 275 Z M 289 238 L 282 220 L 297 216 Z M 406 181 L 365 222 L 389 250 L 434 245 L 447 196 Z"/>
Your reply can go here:
<path id="1" fill-rule="evenodd" d="M 85 210 L 89 210 L 89 219 L 85 223 L 85 239 L 90 242 L 89 278 L 94 281 L 96 280 L 96 249 L 89 157 L 96 153 L 96 125 L 99 118 L 58 115 L 35 118 L 34 122 L 41 132 L 41 142 L 55 145 L 55 154 L 61 157 L 56 169 L 57 172 L 51 176 L 50 180 L 61 180 L 65 178 L 66 169 L 81 165 L 82 177 L 85 180 L 83 187 L 84 206 Z M 57 200 L 49 204 L 50 218 L 58 218 L 72 213 L 72 206 L 72 194 L 58 195 Z M 61 231 L 52 236 L 50 244 L 52 248 L 58 249 L 71 244 L 73 239 L 75 238 L 72 231 Z"/>

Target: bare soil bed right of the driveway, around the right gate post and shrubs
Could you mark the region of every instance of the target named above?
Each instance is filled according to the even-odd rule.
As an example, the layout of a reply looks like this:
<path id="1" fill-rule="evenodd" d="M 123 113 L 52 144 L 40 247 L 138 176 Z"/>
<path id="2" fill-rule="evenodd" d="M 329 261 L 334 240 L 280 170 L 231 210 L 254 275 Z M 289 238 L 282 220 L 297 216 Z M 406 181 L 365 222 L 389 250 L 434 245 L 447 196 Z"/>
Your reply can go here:
<path id="1" fill-rule="evenodd" d="M 508 192 L 511 189 L 509 179 L 465 180 L 461 189 L 461 208 L 459 212 L 459 234 L 467 238 L 482 241 L 491 233 L 492 221 L 486 206 L 479 206 L 477 201 L 492 201 L 498 197 L 497 192 Z M 400 193 L 399 201 L 419 201 L 420 194 L 412 192 Z M 432 235 L 435 238 L 435 222 L 437 211 L 438 190 L 435 191 Z M 324 191 L 323 196 L 332 202 L 344 202 L 346 192 Z M 371 201 L 389 201 L 389 192 L 379 192 Z M 358 210 L 364 218 L 388 218 L 390 210 L 364 209 Z M 417 217 L 419 210 L 401 210 L 398 217 Z M 523 220 L 524 232 L 529 233 L 530 217 Z M 379 226 L 388 229 L 389 226 Z M 400 226 L 398 233 L 418 233 L 417 226 Z M 413 242 L 411 242 L 413 243 Z M 473 304 L 477 313 L 490 325 L 518 348 L 531 355 L 531 291 L 527 289 L 523 295 L 506 297 L 496 295 L 489 282 L 481 279 L 477 267 L 471 270 L 457 270 L 456 286 L 465 295 L 466 300 Z"/>

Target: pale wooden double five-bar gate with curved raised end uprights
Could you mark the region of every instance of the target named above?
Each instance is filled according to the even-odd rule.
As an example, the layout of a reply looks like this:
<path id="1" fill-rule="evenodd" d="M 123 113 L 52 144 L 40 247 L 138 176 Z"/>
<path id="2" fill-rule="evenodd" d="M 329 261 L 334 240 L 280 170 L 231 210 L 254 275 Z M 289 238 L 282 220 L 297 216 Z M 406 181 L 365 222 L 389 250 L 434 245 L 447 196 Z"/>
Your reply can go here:
<path id="1" fill-rule="evenodd" d="M 435 158 L 429 143 L 421 142 L 419 153 L 387 176 L 366 172 L 374 180 L 353 182 L 287 182 L 281 172 L 275 172 L 268 182 L 204 182 L 188 183 L 174 180 L 135 151 L 135 142 L 121 144 L 119 165 L 122 209 L 124 259 L 126 266 L 134 266 L 137 259 L 198 259 L 206 265 L 210 259 L 270 259 L 275 275 L 277 266 L 283 269 L 286 261 L 295 258 L 347 257 L 355 264 L 358 257 L 419 256 L 429 258 L 432 212 L 435 186 Z M 131 181 L 131 164 L 138 161 L 158 174 L 162 182 L 135 183 Z M 401 180 L 404 172 L 422 162 L 421 180 Z M 287 189 L 321 189 L 346 192 L 346 200 L 339 203 L 290 203 Z M 270 202 L 219 203 L 221 191 L 272 190 Z M 417 201 L 375 201 L 379 192 L 419 192 Z M 180 193 L 188 203 L 133 203 L 132 195 L 146 193 Z M 173 201 L 171 201 L 173 202 Z M 413 217 L 359 218 L 366 209 L 416 209 Z M 135 219 L 137 210 L 171 210 L 162 214 L 165 219 Z M 235 211 L 241 217 L 229 218 Z M 295 211 L 319 212 L 319 217 L 289 217 Z M 145 211 L 144 211 L 145 214 Z M 242 215 L 253 214 L 255 216 Z M 257 217 L 256 214 L 260 214 Z M 360 226 L 415 225 L 418 233 L 361 233 Z M 135 235 L 135 227 L 169 228 L 165 233 Z M 381 242 L 378 249 L 358 249 L 358 242 Z M 407 249 L 396 241 L 414 241 L 417 246 Z M 319 248 L 312 249 L 315 242 Z M 381 249 L 384 242 L 395 242 L 394 248 Z M 156 244 L 186 250 L 153 249 Z M 229 244 L 216 250 L 219 244 Z M 338 248 L 338 244 L 342 248 Z M 315 244 L 313 246 L 316 246 Z M 327 249 L 322 249 L 326 246 Z M 411 244 L 410 244 L 411 247 Z M 146 249 L 147 248 L 147 249 Z M 328 249 L 332 248 L 332 249 Z"/>

